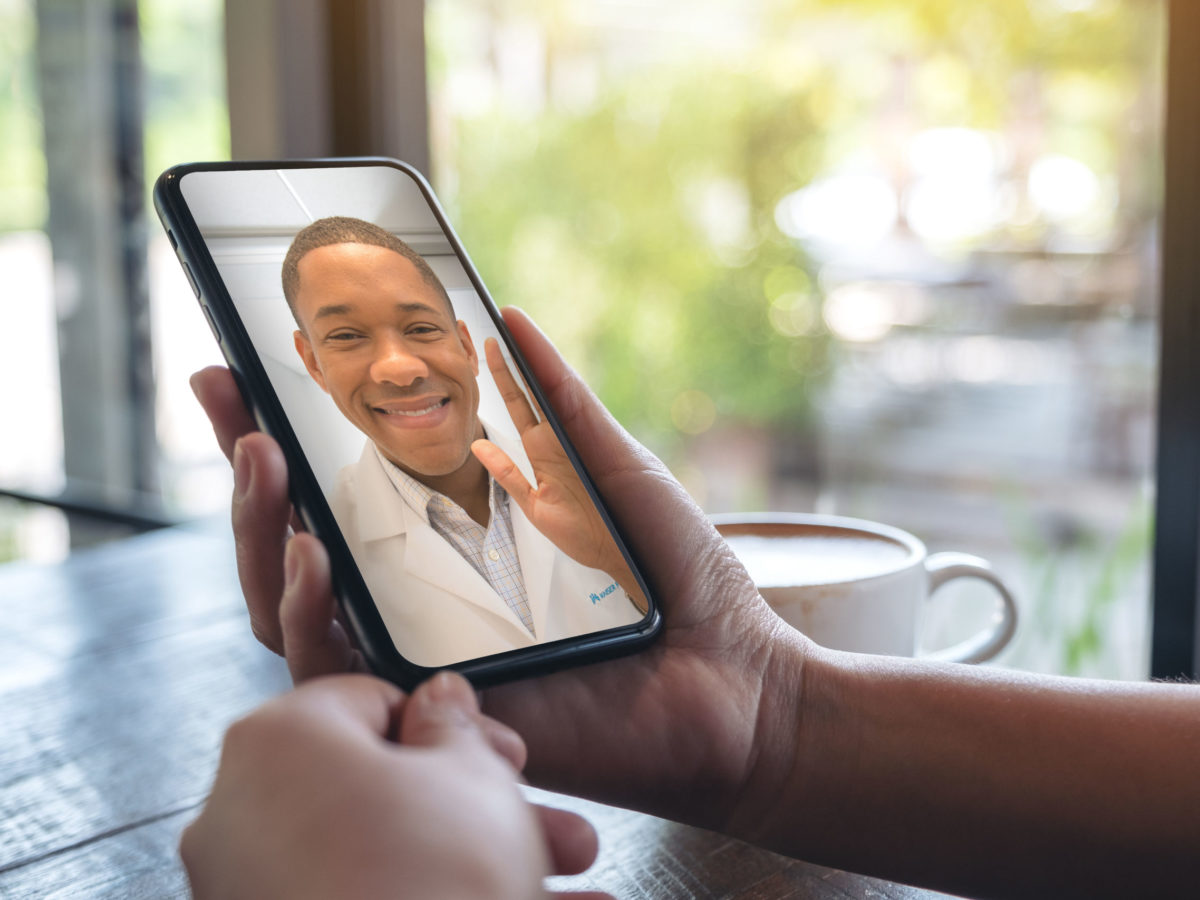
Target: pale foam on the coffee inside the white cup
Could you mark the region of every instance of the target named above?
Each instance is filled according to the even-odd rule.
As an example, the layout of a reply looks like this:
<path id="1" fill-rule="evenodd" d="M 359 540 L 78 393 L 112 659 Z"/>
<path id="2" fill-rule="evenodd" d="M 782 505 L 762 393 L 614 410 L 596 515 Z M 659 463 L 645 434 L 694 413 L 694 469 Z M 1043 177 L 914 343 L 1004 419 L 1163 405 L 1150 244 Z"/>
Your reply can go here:
<path id="1" fill-rule="evenodd" d="M 726 540 L 760 588 L 871 578 L 904 568 L 912 556 L 887 538 L 836 528 L 772 538 L 733 534 Z"/>

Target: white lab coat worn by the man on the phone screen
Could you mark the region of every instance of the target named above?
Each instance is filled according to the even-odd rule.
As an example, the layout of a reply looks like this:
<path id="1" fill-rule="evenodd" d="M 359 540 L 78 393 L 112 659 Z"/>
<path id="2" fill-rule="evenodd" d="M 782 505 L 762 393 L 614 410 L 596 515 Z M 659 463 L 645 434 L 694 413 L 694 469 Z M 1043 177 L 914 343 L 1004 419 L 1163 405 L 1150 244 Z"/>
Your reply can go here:
<path id="1" fill-rule="evenodd" d="M 535 484 L 523 449 L 487 431 Z M 534 638 L 470 563 L 404 502 L 370 440 L 359 461 L 337 474 L 330 505 L 396 649 L 418 665 L 445 666 L 642 618 L 611 576 L 568 557 L 510 500 Z"/>

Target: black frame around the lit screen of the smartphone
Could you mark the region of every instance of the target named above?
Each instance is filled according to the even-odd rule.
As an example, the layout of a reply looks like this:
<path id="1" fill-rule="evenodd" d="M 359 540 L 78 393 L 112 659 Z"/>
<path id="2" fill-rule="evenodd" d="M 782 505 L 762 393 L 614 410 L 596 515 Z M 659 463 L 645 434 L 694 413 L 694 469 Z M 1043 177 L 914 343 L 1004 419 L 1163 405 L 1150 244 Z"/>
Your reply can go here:
<path id="1" fill-rule="evenodd" d="M 544 410 L 546 420 L 558 436 L 568 458 L 576 473 L 578 473 L 584 490 L 587 490 L 593 503 L 596 505 L 608 532 L 632 569 L 634 576 L 637 578 L 638 586 L 649 604 L 647 614 L 638 623 L 438 667 L 420 666 L 402 656 L 396 649 L 376 608 L 374 601 L 371 599 L 371 593 L 354 563 L 341 529 L 337 527 L 329 503 L 304 455 L 300 442 L 284 414 L 283 406 L 242 325 L 236 306 L 226 289 L 216 263 L 208 251 L 181 190 L 181 180 L 196 172 L 336 169 L 364 166 L 396 168 L 416 182 L 421 194 L 442 226 L 452 251 L 467 272 L 467 277 L 479 295 L 485 312 L 499 331 L 514 364 L 524 378 L 535 401 Z M 654 641 L 662 626 L 659 604 L 646 583 L 636 558 L 612 521 L 604 502 L 600 499 L 590 475 L 580 461 L 578 454 L 547 402 L 541 385 L 534 379 L 524 356 L 512 341 L 500 317 L 499 307 L 475 270 L 470 257 L 448 221 L 433 190 L 420 172 L 398 160 L 368 156 L 316 160 L 254 160 L 248 162 L 194 162 L 172 167 L 160 175 L 154 188 L 154 203 L 158 217 L 167 229 L 168 238 L 185 268 L 185 272 L 190 275 L 193 292 L 199 300 L 203 312 L 209 317 L 210 324 L 216 332 L 215 336 L 217 337 L 221 352 L 229 365 L 229 370 L 234 376 L 247 409 L 253 414 L 258 427 L 275 438 L 283 450 L 284 458 L 288 461 L 292 502 L 305 528 L 317 535 L 329 551 L 334 592 L 338 606 L 346 624 L 353 632 L 354 640 L 362 650 L 372 671 L 404 689 L 412 689 L 440 668 L 451 668 L 461 672 L 473 684 L 484 686 L 535 674 L 545 674 L 566 666 L 583 665 L 634 653 Z"/>

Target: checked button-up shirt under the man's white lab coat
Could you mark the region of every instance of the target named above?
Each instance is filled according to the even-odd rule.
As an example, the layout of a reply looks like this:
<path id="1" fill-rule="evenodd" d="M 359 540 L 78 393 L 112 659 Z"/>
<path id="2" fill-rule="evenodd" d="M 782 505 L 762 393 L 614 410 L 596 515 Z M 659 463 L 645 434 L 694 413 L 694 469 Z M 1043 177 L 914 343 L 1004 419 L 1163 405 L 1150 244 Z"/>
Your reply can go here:
<path id="1" fill-rule="evenodd" d="M 509 605 L 533 635 L 533 613 L 526 594 L 517 545 L 512 536 L 512 514 L 509 511 L 509 494 L 493 478 L 487 479 L 487 505 L 491 515 L 487 528 L 467 515 L 467 510 L 426 487 L 376 448 L 379 463 L 388 474 L 392 487 L 425 520 L 434 532 L 450 542 L 470 566 L 484 576 L 500 599 Z M 536 637 L 536 635 L 534 635 Z"/>

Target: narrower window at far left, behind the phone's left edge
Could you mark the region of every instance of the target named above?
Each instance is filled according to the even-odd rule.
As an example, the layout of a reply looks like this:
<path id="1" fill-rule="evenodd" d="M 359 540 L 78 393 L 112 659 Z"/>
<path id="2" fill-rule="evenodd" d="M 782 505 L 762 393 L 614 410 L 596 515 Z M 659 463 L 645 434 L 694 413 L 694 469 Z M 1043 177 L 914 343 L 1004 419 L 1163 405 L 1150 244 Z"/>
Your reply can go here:
<path id="1" fill-rule="evenodd" d="M 218 0 L 0 4 L 0 487 L 76 510 L 4 502 L 0 558 L 224 503 L 186 379 L 220 358 L 149 208 L 166 166 L 228 156 L 221 25 Z"/>

